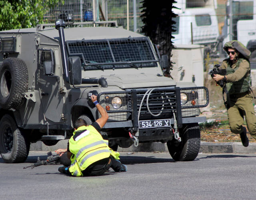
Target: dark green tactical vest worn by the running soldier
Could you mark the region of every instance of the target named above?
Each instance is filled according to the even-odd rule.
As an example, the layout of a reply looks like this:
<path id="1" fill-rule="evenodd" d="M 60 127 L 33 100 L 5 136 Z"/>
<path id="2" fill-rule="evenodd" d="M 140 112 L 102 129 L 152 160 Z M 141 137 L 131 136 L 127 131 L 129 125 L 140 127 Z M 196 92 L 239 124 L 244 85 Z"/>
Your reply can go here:
<path id="1" fill-rule="evenodd" d="M 238 69 L 242 60 L 244 59 L 243 58 L 238 59 L 238 61 L 236 62 L 236 67 L 234 69 L 231 67 L 230 63 L 227 62 L 228 67 L 226 68 L 226 73 L 233 74 Z M 229 94 L 240 94 L 243 92 L 248 92 L 250 89 L 250 82 L 251 82 L 250 76 L 251 74 L 249 74 L 249 76 L 247 77 L 241 78 L 241 80 L 239 81 L 226 83 L 226 88 Z"/>

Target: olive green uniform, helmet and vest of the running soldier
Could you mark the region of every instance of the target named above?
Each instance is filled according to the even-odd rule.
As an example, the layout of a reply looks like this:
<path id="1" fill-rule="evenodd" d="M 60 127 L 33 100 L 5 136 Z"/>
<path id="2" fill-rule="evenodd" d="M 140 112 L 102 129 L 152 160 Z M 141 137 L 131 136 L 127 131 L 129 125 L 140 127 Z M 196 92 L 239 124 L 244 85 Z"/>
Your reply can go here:
<path id="1" fill-rule="evenodd" d="M 226 68 L 226 88 L 230 96 L 230 108 L 228 108 L 228 121 L 231 132 L 241 134 L 244 131 L 242 124 L 244 116 L 251 136 L 256 139 L 256 116 L 254 115 L 254 106 L 252 104 L 252 95 L 250 94 L 250 51 L 246 47 L 232 40 L 224 45 L 224 50 L 234 48 L 239 52 L 236 62 L 227 58 L 222 62 L 221 68 Z"/>

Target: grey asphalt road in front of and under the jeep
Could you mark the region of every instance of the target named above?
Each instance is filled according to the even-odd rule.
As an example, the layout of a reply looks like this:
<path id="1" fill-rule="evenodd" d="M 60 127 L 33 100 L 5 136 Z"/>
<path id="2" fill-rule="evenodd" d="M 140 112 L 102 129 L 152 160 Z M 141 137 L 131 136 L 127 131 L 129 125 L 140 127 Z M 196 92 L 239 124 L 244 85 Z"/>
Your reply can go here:
<path id="1" fill-rule="evenodd" d="M 191 162 L 174 162 L 164 153 L 121 152 L 128 172 L 97 177 L 70 177 L 60 165 L 23 169 L 45 159 L 30 152 L 25 163 L 6 164 L 0 158 L 0 198 L 13 199 L 256 199 L 256 154 L 199 154 Z"/>

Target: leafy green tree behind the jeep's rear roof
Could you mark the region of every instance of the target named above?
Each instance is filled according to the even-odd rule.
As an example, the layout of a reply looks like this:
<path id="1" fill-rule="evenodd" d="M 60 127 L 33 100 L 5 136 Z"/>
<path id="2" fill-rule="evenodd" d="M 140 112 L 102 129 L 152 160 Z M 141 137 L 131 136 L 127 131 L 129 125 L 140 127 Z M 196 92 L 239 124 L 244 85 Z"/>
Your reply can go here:
<path id="1" fill-rule="evenodd" d="M 0 0 L 0 30 L 36 27 L 58 3 L 59 0 Z"/>

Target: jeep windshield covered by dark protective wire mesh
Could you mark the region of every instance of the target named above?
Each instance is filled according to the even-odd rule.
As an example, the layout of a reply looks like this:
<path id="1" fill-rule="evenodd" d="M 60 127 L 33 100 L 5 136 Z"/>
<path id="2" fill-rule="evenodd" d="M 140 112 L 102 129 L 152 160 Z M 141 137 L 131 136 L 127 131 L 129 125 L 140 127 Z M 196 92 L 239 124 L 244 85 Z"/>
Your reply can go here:
<path id="1" fill-rule="evenodd" d="M 147 37 L 66 41 L 68 55 L 79 56 L 84 70 L 157 66 Z"/>

